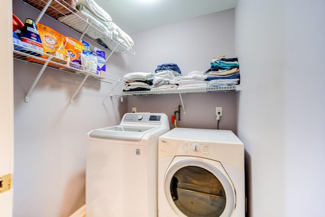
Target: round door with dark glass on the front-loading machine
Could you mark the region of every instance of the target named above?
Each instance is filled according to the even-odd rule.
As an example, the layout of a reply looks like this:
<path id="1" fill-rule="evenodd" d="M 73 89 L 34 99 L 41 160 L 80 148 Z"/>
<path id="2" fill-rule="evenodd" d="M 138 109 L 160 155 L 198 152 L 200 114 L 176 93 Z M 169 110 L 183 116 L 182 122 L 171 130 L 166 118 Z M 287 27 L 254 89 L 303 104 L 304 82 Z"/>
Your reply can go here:
<path id="1" fill-rule="evenodd" d="M 178 216 L 231 216 L 234 186 L 220 162 L 175 157 L 165 174 L 165 194 Z"/>

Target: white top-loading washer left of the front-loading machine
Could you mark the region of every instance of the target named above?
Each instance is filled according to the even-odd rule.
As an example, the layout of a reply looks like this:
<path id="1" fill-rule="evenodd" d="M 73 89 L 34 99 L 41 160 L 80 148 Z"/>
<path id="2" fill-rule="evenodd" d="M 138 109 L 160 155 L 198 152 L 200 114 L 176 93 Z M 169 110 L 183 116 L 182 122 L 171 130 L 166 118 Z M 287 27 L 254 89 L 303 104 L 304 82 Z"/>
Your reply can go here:
<path id="1" fill-rule="evenodd" d="M 166 114 L 126 113 L 87 136 L 87 217 L 157 216 L 158 137 Z"/>

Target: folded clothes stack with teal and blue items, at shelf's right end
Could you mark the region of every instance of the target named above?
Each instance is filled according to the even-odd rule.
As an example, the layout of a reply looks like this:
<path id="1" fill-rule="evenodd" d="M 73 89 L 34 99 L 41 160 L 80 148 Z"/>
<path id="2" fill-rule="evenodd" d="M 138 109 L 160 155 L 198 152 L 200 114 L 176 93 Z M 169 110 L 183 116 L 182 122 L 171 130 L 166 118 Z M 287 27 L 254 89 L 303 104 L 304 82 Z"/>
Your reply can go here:
<path id="1" fill-rule="evenodd" d="M 205 74 L 208 87 L 237 85 L 240 80 L 238 58 L 214 57 Z"/>

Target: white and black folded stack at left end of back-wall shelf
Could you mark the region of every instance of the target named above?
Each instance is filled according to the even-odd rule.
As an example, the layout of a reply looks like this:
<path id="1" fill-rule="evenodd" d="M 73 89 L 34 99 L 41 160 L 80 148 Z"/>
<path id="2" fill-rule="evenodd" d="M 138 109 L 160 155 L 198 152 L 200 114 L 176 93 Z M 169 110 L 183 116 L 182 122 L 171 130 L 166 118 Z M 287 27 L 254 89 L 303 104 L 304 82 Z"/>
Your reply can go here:
<path id="1" fill-rule="evenodd" d="M 122 91 L 145 91 L 150 90 L 154 74 L 151 72 L 131 72 L 123 76 L 127 80 Z"/>

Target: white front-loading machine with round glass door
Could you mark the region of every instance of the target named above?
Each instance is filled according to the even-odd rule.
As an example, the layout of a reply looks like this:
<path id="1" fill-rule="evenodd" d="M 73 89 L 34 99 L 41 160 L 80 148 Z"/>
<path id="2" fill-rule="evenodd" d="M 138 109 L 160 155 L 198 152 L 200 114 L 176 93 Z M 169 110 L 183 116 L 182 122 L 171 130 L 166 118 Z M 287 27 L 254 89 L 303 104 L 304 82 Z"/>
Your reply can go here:
<path id="1" fill-rule="evenodd" d="M 175 128 L 159 137 L 159 217 L 245 216 L 244 145 L 228 130 Z"/>

